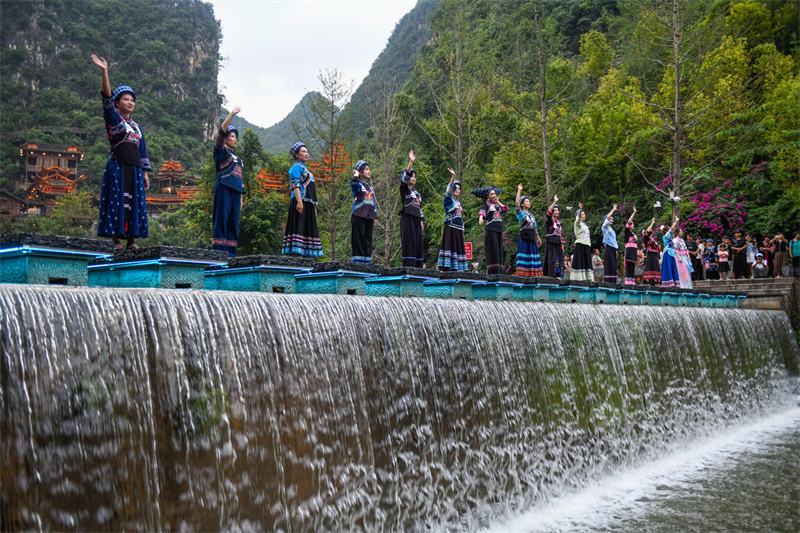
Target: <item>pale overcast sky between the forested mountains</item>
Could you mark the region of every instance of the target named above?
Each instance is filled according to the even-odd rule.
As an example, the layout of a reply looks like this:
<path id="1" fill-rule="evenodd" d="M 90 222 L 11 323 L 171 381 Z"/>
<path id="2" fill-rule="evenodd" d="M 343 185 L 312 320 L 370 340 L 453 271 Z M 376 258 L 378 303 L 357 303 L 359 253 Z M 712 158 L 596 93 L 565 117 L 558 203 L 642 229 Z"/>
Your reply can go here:
<path id="1" fill-rule="evenodd" d="M 208 0 L 222 23 L 226 108 L 269 127 L 336 67 L 355 86 L 416 0 Z"/>

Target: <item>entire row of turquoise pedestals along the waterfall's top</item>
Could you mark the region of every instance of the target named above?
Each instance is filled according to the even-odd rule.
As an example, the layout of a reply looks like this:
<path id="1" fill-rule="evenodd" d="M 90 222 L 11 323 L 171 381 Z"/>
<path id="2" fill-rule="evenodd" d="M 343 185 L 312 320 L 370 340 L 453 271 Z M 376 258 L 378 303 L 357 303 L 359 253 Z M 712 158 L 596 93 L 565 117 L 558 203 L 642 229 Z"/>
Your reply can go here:
<path id="1" fill-rule="evenodd" d="M 4 250 L 8 251 L 10 250 Z M 31 247 L 19 249 L 16 253 L 4 254 L 0 263 L 0 281 L 115 288 L 205 288 L 287 294 L 296 292 L 518 302 L 739 307 L 739 297 L 723 294 L 517 284 L 409 275 L 381 276 L 348 270 L 312 272 L 310 268 L 274 265 L 227 268 L 224 263 L 163 257 L 130 262 L 89 263 L 91 258 L 96 257 L 75 251 L 37 250 Z"/>

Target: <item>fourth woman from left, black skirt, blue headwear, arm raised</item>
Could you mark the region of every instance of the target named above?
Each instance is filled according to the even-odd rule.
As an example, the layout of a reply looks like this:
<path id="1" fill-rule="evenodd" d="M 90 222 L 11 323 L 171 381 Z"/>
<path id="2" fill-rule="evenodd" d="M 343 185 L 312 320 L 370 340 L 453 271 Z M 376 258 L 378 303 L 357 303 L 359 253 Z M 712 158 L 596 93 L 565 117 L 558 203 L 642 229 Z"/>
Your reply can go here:
<path id="1" fill-rule="evenodd" d="M 353 192 L 353 209 L 350 211 L 350 247 L 354 263 L 372 262 L 372 231 L 378 216 L 375 193 L 367 180 L 372 177 L 372 169 L 364 160 L 353 167 L 350 190 Z"/>

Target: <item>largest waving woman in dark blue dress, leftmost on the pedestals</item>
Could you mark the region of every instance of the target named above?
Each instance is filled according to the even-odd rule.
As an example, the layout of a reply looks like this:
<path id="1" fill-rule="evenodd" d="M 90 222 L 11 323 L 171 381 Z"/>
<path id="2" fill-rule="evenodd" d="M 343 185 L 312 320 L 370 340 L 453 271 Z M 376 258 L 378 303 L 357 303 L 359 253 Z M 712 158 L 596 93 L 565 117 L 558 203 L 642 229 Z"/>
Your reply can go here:
<path id="1" fill-rule="evenodd" d="M 144 132 L 133 118 L 136 93 L 127 85 L 111 92 L 108 80 L 108 63 L 92 54 L 92 61 L 102 73 L 103 119 L 106 123 L 111 154 L 103 172 L 100 190 L 100 222 L 97 235 L 111 237 L 114 249 L 122 249 L 121 238 L 127 248 L 134 249 L 136 239 L 145 238 L 147 230 L 147 199 L 145 190 L 150 187 L 150 160 Z"/>

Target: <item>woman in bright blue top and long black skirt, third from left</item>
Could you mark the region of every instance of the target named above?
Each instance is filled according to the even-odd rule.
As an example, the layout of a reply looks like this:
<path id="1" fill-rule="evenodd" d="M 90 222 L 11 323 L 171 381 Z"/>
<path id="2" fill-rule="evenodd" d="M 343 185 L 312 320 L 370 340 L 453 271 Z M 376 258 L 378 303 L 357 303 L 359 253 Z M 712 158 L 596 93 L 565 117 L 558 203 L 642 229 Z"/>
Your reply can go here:
<path id="1" fill-rule="evenodd" d="M 289 149 L 289 155 L 294 158 L 294 165 L 289 169 L 292 199 L 289 201 L 281 255 L 322 257 L 322 241 L 317 228 L 317 188 L 314 174 L 306 166 L 310 157 L 308 147 L 296 142 Z"/>

